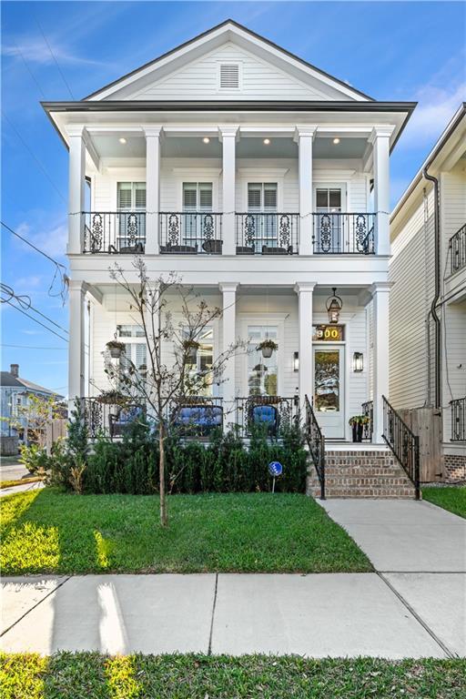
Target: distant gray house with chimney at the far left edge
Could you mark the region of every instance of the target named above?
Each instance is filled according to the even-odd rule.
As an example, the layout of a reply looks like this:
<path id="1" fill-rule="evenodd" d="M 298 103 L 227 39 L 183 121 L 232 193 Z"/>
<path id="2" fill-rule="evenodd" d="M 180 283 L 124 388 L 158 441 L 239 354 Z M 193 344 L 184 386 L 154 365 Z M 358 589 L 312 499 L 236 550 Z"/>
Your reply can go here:
<path id="1" fill-rule="evenodd" d="M 27 406 L 31 394 L 42 396 L 45 400 L 50 396 L 55 396 L 56 400 L 63 400 L 63 396 L 57 395 L 53 390 L 22 379 L 19 376 L 19 364 L 11 364 L 9 371 L 0 373 L 0 434 L 16 433 L 11 428 L 12 419 L 27 427 L 27 419 L 21 416 L 19 409 Z"/>

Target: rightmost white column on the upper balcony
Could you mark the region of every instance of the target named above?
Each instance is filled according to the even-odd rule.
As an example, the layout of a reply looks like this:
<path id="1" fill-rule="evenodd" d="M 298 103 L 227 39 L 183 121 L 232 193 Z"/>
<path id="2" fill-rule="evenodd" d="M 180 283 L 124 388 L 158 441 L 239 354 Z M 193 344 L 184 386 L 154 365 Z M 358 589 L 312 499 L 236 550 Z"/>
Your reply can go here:
<path id="1" fill-rule="evenodd" d="M 392 130 L 392 127 L 375 127 L 370 134 L 374 159 L 377 255 L 390 255 L 390 135 Z"/>

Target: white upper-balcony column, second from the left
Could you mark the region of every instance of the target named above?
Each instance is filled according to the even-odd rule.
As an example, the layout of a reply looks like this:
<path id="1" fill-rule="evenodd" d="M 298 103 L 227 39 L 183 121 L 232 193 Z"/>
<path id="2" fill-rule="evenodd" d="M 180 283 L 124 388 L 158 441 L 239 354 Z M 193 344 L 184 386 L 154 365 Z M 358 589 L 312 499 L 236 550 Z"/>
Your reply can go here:
<path id="1" fill-rule="evenodd" d="M 161 127 L 147 127 L 146 134 L 146 254 L 158 254 L 158 219 L 160 211 L 160 132 Z"/>

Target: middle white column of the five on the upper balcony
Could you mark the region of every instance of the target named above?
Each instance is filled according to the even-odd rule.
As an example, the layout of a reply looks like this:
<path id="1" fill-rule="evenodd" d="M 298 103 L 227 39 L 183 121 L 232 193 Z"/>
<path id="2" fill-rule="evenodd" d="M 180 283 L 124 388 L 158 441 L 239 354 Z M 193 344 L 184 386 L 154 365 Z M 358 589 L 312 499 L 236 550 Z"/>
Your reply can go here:
<path id="1" fill-rule="evenodd" d="M 236 253 L 235 193 L 236 193 L 236 138 L 237 126 L 218 127 L 218 138 L 223 146 L 223 214 L 222 252 L 224 255 Z"/>

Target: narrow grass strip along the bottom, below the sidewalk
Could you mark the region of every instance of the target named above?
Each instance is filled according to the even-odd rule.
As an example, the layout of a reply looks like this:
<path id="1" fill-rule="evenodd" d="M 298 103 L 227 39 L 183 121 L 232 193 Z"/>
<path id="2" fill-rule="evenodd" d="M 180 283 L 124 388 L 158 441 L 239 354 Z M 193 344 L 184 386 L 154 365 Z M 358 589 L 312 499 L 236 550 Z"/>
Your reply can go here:
<path id="1" fill-rule="evenodd" d="M 464 699 L 466 660 L 2 655 L 3 699 Z"/>

